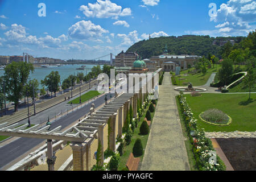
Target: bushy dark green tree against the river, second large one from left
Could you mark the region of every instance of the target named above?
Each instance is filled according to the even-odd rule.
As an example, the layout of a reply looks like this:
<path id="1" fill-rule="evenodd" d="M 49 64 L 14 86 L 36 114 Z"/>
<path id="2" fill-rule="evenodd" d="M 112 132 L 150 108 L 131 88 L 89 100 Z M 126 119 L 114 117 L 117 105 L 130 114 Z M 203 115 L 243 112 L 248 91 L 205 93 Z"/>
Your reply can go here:
<path id="1" fill-rule="evenodd" d="M 56 97 L 56 92 L 59 91 L 59 83 L 60 83 L 60 75 L 59 72 L 52 71 L 49 75 L 41 80 L 41 84 L 43 86 L 47 86 L 50 92 L 54 92 L 54 96 Z"/>

